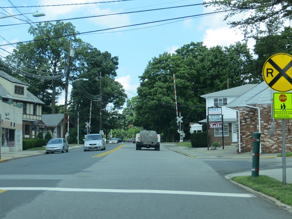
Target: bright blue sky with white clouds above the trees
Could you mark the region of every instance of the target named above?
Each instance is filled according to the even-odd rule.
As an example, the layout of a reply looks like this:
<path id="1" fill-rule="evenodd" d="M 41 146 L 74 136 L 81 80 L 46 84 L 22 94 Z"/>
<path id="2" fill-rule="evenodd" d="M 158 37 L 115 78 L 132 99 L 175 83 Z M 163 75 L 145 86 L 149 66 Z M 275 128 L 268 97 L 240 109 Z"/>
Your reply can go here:
<path id="1" fill-rule="evenodd" d="M 96 3 L 105 1 L 115 0 L 1 0 L 0 6 L 46 6 L 59 4 Z M 201 0 L 130 0 L 70 6 L 24 7 L 18 8 L 18 10 L 20 10 L 21 13 L 35 11 L 46 13 L 46 16 L 39 18 L 32 17 L 31 14 L 26 14 L 26 16 L 33 22 L 41 22 L 105 15 L 109 13 L 124 13 L 155 8 L 184 6 L 200 4 L 202 2 L 203 1 Z M 5 9 L 5 11 L 3 9 Z M 72 22 L 72 24 L 76 27 L 76 30 L 79 32 L 88 32 L 135 25 L 145 22 L 199 15 L 213 11 L 214 8 L 204 8 L 203 6 L 198 5 L 140 13 L 109 15 L 97 18 L 68 20 L 67 22 Z M 11 15 L 19 14 L 15 8 L 0 8 L 0 16 L 8 15 L 9 13 Z M 240 15 L 235 19 L 241 19 L 244 16 L 245 15 Z M 17 18 L 26 20 L 23 15 L 19 15 Z M 126 94 L 129 98 L 131 98 L 134 94 L 136 94 L 137 87 L 139 86 L 138 76 L 143 74 L 148 62 L 153 57 L 157 57 L 159 54 L 164 52 L 174 53 L 177 48 L 180 48 L 185 44 L 189 44 L 192 41 L 202 41 L 207 47 L 216 45 L 229 46 L 237 41 L 241 41 L 243 39 L 241 32 L 239 32 L 238 29 L 230 29 L 230 26 L 226 24 L 226 21 L 223 21 L 223 18 L 224 14 L 200 16 L 185 20 L 178 19 L 180 21 L 171 20 L 147 25 L 100 31 L 95 34 L 79 35 L 78 37 L 83 41 L 90 43 L 102 52 L 108 51 L 112 54 L 112 56 L 119 57 L 119 69 L 117 70 L 116 80 L 124 86 Z M 21 21 L 15 18 L 0 19 L 0 25 L 15 23 L 21 23 Z M 27 33 L 28 27 L 28 24 L 0 27 L 0 36 L 5 39 L 0 38 L 0 46 L 7 44 L 6 41 L 9 43 L 14 43 L 18 41 L 32 40 L 32 36 Z M 248 45 L 252 48 L 254 42 L 251 41 Z M 10 52 L 13 49 L 12 46 L 1 46 L 1 48 Z M 1 56 L 6 56 L 7 54 L 8 53 L 5 53 L 4 51 L 0 51 Z M 59 99 L 59 103 L 64 103 L 64 97 Z"/>

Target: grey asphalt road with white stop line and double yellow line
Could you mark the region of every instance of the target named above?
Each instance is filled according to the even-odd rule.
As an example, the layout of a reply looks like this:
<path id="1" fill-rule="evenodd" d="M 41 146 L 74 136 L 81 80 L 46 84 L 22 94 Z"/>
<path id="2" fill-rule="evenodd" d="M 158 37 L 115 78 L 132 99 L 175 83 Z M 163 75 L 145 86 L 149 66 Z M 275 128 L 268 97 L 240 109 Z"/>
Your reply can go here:
<path id="1" fill-rule="evenodd" d="M 212 166 L 163 145 L 135 150 L 133 143 L 6 161 L 0 218 L 291 218 Z"/>

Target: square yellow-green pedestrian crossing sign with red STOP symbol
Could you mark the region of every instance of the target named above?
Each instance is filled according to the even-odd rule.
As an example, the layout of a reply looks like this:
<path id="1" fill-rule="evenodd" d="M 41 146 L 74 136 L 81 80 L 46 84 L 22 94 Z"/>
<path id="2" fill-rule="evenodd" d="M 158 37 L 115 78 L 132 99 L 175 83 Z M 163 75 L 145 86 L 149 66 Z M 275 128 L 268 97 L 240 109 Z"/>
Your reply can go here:
<path id="1" fill-rule="evenodd" d="M 274 93 L 274 119 L 292 119 L 292 93 Z"/>

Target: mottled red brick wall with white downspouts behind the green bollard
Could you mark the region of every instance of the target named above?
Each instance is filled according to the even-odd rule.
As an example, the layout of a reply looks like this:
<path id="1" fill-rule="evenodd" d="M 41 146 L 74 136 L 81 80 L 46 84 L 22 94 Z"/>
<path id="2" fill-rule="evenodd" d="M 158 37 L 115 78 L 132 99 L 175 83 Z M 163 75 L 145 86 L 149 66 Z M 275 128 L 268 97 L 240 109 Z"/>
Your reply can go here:
<path id="1" fill-rule="evenodd" d="M 281 153 L 282 119 L 273 119 L 270 104 L 257 105 L 257 107 L 260 108 L 262 152 Z M 240 111 L 241 152 L 250 152 L 253 150 L 253 133 L 259 131 L 258 109 L 239 107 L 238 110 Z M 285 123 L 286 152 L 292 152 L 292 121 L 285 119 Z M 239 148 L 239 139 L 237 147 Z"/>

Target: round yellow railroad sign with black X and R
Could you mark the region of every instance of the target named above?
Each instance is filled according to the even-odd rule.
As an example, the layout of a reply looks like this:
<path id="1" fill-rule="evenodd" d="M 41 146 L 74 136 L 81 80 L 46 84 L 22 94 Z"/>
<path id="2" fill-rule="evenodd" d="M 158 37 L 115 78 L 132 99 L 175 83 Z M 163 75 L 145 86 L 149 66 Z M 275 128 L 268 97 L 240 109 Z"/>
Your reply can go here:
<path id="1" fill-rule="evenodd" d="M 292 56 L 278 53 L 267 59 L 263 67 L 266 84 L 275 91 L 292 90 Z"/>

